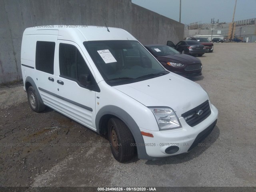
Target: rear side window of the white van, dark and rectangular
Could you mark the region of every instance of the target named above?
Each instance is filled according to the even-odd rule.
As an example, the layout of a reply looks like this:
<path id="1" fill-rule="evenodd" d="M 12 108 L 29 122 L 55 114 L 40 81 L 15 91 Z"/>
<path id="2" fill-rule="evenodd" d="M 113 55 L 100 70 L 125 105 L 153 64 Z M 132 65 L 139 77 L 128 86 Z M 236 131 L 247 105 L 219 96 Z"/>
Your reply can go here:
<path id="1" fill-rule="evenodd" d="M 54 50 L 55 42 L 36 42 L 36 69 L 53 74 L 54 73 Z"/>

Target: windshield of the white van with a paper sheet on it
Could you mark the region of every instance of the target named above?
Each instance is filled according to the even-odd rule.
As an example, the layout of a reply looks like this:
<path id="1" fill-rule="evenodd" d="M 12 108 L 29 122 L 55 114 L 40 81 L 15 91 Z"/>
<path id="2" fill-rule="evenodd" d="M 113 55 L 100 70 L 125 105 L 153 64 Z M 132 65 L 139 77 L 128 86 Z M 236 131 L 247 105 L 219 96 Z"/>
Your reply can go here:
<path id="1" fill-rule="evenodd" d="M 104 80 L 111 86 L 169 73 L 138 41 L 88 41 L 84 46 Z"/>

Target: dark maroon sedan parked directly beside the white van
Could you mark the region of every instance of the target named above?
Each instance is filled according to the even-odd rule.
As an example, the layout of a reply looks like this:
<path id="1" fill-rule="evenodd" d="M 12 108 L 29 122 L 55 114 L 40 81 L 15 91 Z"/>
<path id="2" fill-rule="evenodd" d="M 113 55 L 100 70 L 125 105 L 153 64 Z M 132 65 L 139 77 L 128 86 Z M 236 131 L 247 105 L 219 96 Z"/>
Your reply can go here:
<path id="1" fill-rule="evenodd" d="M 193 56 L 181 54 L 167 45 L 144 45 L 167 70 L 185 77 L 202 75 L 201 61 Z"/>

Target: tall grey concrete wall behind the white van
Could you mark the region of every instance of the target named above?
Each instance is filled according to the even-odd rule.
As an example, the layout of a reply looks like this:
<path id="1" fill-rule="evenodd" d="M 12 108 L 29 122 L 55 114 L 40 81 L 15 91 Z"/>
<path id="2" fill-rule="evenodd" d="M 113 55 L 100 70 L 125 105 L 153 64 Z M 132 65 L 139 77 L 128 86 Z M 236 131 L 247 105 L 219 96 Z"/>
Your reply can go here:
<path id="1" fill-rule="evenodd" d="M 131 0 L 0 0 L 0 84 L 22 78 L 20 47 L 25 28 L 73 24 L 123 28 L 142 43 L 183 38 L 184 25 Z"/>

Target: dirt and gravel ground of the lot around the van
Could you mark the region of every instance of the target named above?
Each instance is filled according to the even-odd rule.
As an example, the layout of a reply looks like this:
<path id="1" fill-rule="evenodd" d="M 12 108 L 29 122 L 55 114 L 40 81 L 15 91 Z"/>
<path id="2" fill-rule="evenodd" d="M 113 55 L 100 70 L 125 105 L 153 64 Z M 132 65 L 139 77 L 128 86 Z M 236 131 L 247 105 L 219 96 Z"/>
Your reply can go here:
<path id="1" fill-rule="evenodd" d="M 187 154 L 121 164 L 108 140 L 46 108 L 23 84 L 0 87 L 0 186 L 256 186 L 256 44 L 214 43 L 191 78 L 219 110 L 213 132 Z"/>

